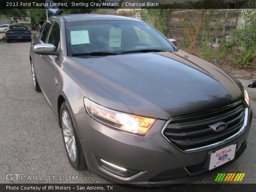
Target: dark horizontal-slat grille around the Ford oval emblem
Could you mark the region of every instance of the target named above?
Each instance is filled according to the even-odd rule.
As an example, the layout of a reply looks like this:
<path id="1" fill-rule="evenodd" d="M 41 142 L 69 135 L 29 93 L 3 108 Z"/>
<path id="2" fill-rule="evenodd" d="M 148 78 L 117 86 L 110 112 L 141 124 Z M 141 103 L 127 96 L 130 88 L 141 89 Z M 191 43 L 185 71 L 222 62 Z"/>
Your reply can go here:
<path id="1" fill-rule="evenodd" d="M 192 116 L 172 118 L 162 134 L 181 150 L 207 146 L 236 134 L 244 124 L 245 105 L 236 104 Z M 210 125 L 225 122 L 226 129 L 215 132 Z"/>

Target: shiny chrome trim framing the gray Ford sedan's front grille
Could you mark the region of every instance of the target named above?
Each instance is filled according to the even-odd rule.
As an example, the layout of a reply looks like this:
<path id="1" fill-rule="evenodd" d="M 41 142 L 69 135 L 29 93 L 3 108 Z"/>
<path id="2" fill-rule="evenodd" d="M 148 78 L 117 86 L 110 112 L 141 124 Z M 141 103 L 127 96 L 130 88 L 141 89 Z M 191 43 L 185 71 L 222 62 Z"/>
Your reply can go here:
<path id="1" fill-rule="evenodd" d="M 217 109 L 214 109 L 214 110 L 210 110 L 208 112 L 203 112 L 203 113 L 200 112 L 200 113 L 196 113 L 196 114 L 192 114 L 192 115 L 185 115 L 185 116 L 178 116 L 178 117 L 170 118 L 170 120 L 168 120 L 168 122 L 164 125 L 164 128 L 161 131 L 161 134 L 169 143 L 171 143 L 175 148 L 177 148 L 178 150 L 180 150 L 182 152 L 197 152 L 197 151 L 206 150 L 206 149 L 214 148 L 216 146 L 225 144 L 226 142 L 234 140 L 235 138 L 240 136 L 246 130 L 246 127 L 248 125 L 248 114 L 249 114 L 248 107 L 245 107 L 244 123 L 243 123 L 242 127 L 240 128 L 240 130 L 238 132 L 236 132 L 234 135 L 232 135 L 232 136 L 230 136 L 230 137 L 228 137 L 228 138 L 226 138 L 226 139 L 224 139 L 222 141 L 210 144 L 210 145 L 206 145 L 206 146 L 202 146 L 202 147 L 198 147 L 198 148 L 187 149 L 187 150 L 182 150 L 182 149 L 178 148 L 178 146 L 176 146 L 172 141 L 168 140 L 168 138 L 166 138 L 166 136 L 164 136 L 164 130 L 166 129 L 166 127 L 168 126 L 168 124 L 171 121 L 180 120 L 180 119 L 186 119 L 186 118 L 192 118 L 192 117 L 198 117 L 198 116 L 204 116 L 206 114 L 216 113 L 216 112 L 228 109 L 228 108 L 232 108 L 233 106 L 236 106 L 236 105 L 238 105 L 240 103 L 244 103 L 244 102 L 242 100 L 240 100 L 240 101 L 235 102 L 233 104 L 230 104 L 228 106 L 224 106 L 222 108 L 217 108 Z"/>

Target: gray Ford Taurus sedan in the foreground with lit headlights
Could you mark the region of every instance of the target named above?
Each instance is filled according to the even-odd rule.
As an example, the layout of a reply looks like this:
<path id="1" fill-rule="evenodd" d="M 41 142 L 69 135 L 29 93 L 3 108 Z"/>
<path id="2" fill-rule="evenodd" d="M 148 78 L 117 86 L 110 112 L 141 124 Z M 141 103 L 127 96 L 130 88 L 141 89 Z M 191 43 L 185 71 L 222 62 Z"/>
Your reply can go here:
<path id="1" fill-rule="evenodd" d="M 114 183 L 185 183 L 246 148 L 252 109 L 242 84 L 141 20 L 51 17 L 30 62 L 76 170 Z"/>

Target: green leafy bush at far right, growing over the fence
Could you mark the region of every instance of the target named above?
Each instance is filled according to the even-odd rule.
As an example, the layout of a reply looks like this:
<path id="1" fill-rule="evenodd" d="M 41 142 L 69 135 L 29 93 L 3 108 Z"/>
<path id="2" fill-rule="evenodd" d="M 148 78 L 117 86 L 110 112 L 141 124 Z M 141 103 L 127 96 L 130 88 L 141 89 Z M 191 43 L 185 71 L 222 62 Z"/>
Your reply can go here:
<path id="1" fill-rule="evenodd" d="M 234 13 L 231 12 L 227 15 L 219 26 L 225 26 L 232 14 Z M 210 12 L 208 17 L 211 15 Z M 253 10 L 241 11 L 238 17 L 241 20 L 240 24 L 237 24 L 230 31 L 230 36 L 219 39 L 220 47 L 218 49 L 212 48 L 209 33 L 220 34 L 222 29 L 216 27 L 214 31 L 211 30 L 206 33 L 206 40 L 202 44 L 202 52 L 200 53 L 201 58 L 213 63 L 216 60 L 219 60 L 220 63 L 223 60 L 232 60 L 237 68 L 250 68 L 256 64 L 256 12 Z M 208 18 L 206 18 L 206 28 L 208 27 L 207 24 Z"/>

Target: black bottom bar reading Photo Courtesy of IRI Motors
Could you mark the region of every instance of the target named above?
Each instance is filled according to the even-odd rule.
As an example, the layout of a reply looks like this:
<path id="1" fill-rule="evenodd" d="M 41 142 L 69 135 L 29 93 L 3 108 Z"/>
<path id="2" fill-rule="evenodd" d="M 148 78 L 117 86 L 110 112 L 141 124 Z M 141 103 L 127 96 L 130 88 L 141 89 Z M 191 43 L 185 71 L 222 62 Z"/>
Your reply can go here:
<path id="1" fill-rule="evenodd" d="M 1 192 L 254 192 L 256 184 L 180 184 L 162 188 L 143 188 L 117 184 L 0 184 Z"/>

